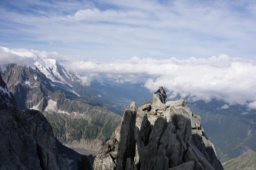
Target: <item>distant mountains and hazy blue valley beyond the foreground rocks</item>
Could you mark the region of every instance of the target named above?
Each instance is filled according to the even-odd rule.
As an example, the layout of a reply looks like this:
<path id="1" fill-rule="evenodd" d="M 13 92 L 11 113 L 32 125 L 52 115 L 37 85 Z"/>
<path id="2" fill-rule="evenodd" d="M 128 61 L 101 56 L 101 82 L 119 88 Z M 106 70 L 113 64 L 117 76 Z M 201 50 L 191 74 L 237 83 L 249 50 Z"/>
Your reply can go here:
<path id="1" fill-rule="evenodd" d="M 42 111 L 51 122 L 56 137 L 66 146 L 98 150 L 110 138 L 132 100 L 137 105 L 152 100 L 152 93 L 141 83 L 120 85 L 106 79 L 103 83 L 91 82 L 86 86 L 77 74 L 65 70 L 54 59 L 43 59 L 32 52 L 18 53 L 3 47 L 0 51 L 34 58 L 31 66 L 6 65 L 0 72 L 16 97 L 17 105 L 24 110 L 36 108 Z M 181 97 L 168 100 L 178 99 Z M 255 111 L 248 110 L 245 105 L 223 108 L 224 105 L 228 103 L 188 100 L 192 113 L 201 116 L 202 126 L 222 163 L 248 149 L 256 151 Z M 76 109 L 78 106 L 81 108 Z M 89 109 L 94 110 L 89 113 Z M 97 110 L 100 113 L 92 120 Z M 85 124 L 86 127 L 83 126 Z M 87 148 L 81 148 L 84 143 Z"/>

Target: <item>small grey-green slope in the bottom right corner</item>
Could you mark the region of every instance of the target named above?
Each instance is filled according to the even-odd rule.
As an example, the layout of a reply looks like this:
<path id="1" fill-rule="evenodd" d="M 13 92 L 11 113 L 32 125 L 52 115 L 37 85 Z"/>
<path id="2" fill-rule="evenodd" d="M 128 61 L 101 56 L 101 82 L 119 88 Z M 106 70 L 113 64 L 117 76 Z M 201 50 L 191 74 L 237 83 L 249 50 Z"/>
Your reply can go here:
<path id="1" fill-rule="evenodd" d="M 249 150 L 222 165 L 225 170 L 256 169 L 256 152 Z"/>

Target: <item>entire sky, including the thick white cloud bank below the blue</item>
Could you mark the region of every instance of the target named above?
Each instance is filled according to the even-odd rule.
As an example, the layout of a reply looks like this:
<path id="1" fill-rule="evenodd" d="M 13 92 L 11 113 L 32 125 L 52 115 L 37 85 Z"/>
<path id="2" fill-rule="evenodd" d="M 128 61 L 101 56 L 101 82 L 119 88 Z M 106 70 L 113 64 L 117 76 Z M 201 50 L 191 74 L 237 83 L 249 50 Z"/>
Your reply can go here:
<path id="1" fill-rule="evenodd" d="M 256 109 L 255 1 L 1 1 L 0 46 L 56 59 L 85 85 Z M 0 50 L 0 65 L 31 58 Z"/>

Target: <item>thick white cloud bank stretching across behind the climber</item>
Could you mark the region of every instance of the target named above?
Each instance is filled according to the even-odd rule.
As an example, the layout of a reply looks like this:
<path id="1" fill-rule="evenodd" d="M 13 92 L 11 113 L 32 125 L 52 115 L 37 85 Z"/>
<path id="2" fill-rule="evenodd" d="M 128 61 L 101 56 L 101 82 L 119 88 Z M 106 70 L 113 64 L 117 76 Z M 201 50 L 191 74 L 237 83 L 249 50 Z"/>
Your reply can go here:
<path id="1" fill-rule="evenodd" d="M 7 49 L 7 48 L 6 48 Z M 8 51 L 9 49 L 7 49 Z M 14 50 L 14 49 L 12 49 Z M 218 57 L 188 59 L 152 59 L 132 57 L 127 60 L 76 59 L 56 52 L 15 49 L 16 54 L 0 52 L 1 65 L 16 63 L 30 65 L 38 56 L 56 59 L 67 70 L 78 73 L 85 85 L 91 81 L 103 83 L 106 79 L 113 83 L 143 83 L 144 87 L 155 92 L 159 85 L 164 86 L 168 97 L 180 95 L 191 101 L 211 99 L 223 100 L 230 105 L 247 104 L 256 109 L 256 63 L 255 61 L 222 54 Z M 23 56 L 23 57 L 21 57 Z M 222 108 L 228 108 L 223 105 Z"/>

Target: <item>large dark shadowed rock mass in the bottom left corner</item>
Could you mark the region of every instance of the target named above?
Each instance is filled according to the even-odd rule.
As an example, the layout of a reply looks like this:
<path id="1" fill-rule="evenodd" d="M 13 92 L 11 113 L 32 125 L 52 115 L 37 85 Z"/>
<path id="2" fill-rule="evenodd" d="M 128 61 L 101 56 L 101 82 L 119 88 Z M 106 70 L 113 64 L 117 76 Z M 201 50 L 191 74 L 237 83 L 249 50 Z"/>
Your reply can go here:
<path id="1" fill-rule="evenodd" d="M 0 111 L 1 166 L 6 169 L 60 169 L 51 125 L 37 110 L 13 106 Z M 65 165 L 61 167 L 67 167 Z"/>

